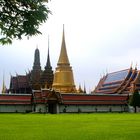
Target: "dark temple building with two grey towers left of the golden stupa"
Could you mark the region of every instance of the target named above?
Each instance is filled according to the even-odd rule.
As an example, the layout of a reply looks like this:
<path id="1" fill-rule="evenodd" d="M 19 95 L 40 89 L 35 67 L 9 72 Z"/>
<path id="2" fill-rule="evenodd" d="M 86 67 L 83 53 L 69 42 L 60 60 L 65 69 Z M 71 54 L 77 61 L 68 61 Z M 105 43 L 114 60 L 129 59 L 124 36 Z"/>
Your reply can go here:
<path id="1" fill-rule="evenodd" d="M 40 52 L 36 48 L 34 54 L 34 63 L 31 71 L 26 75 L 11 76 L 10 93 L 31 94 L 33 90 L 41 90 L 41 88 L 52 88 L 53 70 L 50 63 L 49 49 L 45 70 L 41 69 Z"/>

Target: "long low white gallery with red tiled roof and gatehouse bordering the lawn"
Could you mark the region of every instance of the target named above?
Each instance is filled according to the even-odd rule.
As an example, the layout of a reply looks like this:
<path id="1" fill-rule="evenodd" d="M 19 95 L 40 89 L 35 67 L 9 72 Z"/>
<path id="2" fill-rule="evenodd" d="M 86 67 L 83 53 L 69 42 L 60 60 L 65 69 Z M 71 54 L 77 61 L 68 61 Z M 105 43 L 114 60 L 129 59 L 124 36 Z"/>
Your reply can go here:
<path id="1" fill-rule="evenodd" d="M 0 94 L 0 112 L 93 113 L 129 112 L 127 95 L 59 93 Z"/>

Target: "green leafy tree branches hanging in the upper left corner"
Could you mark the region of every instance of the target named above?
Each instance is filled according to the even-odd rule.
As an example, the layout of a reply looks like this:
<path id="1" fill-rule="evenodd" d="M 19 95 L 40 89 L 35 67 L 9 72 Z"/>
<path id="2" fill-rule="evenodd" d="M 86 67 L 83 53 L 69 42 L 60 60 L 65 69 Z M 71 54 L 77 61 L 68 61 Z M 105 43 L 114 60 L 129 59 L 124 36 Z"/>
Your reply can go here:
<path id="1" fill-rule="evenodd" d="M 51 13 L 44 2 L 48 0 L 0 0 L 0 44 L 41 34 L 39 25 Z"/>

